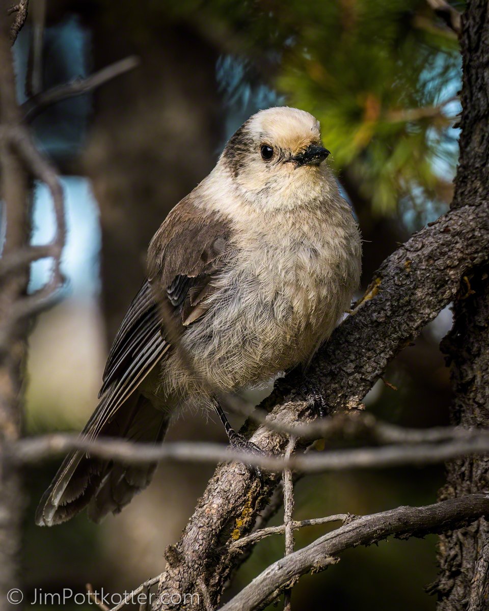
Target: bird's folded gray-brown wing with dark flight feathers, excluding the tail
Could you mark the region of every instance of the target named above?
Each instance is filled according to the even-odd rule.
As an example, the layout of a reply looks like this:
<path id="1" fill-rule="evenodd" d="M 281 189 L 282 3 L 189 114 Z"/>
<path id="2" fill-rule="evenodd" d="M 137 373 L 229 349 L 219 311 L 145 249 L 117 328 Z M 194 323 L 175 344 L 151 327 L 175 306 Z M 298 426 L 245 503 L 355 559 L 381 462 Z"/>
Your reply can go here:
<path id="1" fill-rule="evenodd" d="M 205 296 L 211 280 L 224 266 L 229 227 L 213 216 L 189 214 L 189 205 L 174 208 L 173 222 L 164 222 L 158 248 L 150 247 L 150 280 L 145 280 L 133 299 L 114 339 L 103 373 L 99 409 L 92 416 L 93 437 L 141 384 L 171 348 L 166 341 L 160 307 L 166 301 L 176 324 L 188 326 L 205 312 Z M 175 213 L 176 211 L 176 213 Z M 87 431 L 88 433 L 88 431 Z"/>

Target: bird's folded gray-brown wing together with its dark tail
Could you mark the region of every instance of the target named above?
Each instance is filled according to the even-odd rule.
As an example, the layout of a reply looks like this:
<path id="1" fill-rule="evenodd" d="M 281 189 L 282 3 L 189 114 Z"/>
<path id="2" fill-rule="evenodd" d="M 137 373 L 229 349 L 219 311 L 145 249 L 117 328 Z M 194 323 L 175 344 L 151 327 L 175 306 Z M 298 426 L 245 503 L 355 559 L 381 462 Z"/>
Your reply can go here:
<path id="1" fill-rule="evenodd" d="M 227 227 L 208 216 L 189 213 L 182 202 L 172 223 L 165 222 L 149 255 L 151 281 L 145 280 L 133 299 L 109 353 L 100 403 L 83 434 L 123 437 L 135 441 L 163 439 L 169 415 L 153 408 L 137 392 L 152 369 L 171 349 L 165 339 L 155 292 L 165 299 L 175 321 L 185 327 L 205 312 L 202 300 L 212 290 L 211 279 L 222 269 Z M 176 217 L 176 219 L 175 219 Z M 177 221 L 177 222 L 175 222 Z M 35 521 L 53 525 L 72 518 L 89 506 L 95 521 L 117 513 L 150 481 L 154 464 L 125 466 L 102 461 L 84 452 L 65 458 L 43 494 Z"/>

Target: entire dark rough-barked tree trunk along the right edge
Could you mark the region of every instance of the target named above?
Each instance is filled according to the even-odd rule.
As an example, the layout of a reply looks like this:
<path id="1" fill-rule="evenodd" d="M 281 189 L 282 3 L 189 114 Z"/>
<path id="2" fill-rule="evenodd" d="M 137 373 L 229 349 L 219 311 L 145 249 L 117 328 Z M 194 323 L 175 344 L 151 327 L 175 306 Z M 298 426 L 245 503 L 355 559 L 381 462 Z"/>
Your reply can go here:
<path id="1" fill-rule="evenodd" d="M 461 34 L 463 90 L 460 163 L 452 207 L 489 200 L 489 5 L 472 0 Z M 452 423 L 489 428 L 489 267 L 463 279 L 454 304 L 454 327 L 442 349 L 451 363 L 455 398 Z M 447 464 L 441 499 L 489 489 L 489 456 Z M 433 588 L 440 611 L 483 611 L 489 607 L 489 522 L 480 518 L 441 537 L 440 576 Z"/>

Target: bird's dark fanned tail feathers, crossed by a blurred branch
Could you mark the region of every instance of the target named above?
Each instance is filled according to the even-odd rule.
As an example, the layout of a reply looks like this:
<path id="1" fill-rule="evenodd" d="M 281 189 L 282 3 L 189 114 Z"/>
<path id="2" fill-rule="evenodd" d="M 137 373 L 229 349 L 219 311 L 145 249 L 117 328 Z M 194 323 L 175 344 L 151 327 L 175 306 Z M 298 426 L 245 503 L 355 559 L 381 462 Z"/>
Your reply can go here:
<path id="1" fill-rule="evenodd" d="M 84 433 L 89 434 L 94 424 L 90 420 Z M 156 443 L 163 440 L 168 424 L 169 414 L 156 410 L 136 392 L 120 406 L 100 434 Z M 92 458 L 85 452 L 73 452 L 64 459 L 43 494 L 35 523 L 39 526 L 61 524 L 87 505 L 89 518 L 100 522 L 111 511 L 119 513 L 135 494 L 146 488 L 155 468 L 155 463 L 131 466 Z"/>

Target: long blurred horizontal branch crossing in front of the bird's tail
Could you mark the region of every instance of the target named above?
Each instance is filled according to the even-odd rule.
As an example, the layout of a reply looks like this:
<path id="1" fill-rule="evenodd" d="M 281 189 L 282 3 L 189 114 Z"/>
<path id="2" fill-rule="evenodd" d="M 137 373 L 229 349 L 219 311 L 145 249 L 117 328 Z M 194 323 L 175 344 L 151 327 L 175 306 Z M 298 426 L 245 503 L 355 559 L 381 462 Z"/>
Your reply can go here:
<path id="1" fill-rule="evenodd" d="M 113 459 L 128 464 L 147 464 L 164 460 L 194 463 L 240 461 L 249 466 L 262 467 L 271 473 L 284 469 L 297 469 L 307 473 L 325 470 L 370 469 L 395 467 L 406 464 L 441 463 L 457 456 L 489 452 L 489 431 L 474 431 L 467 439 L 452 439 L 439 444 L 384 445 L 355 450 L 328 450 L 295 455 L 289 459 L 265 456 L 229 448 L 224 444 L 196 442 L 167 442 L 160 445 L 138 443 L 120 439 L 94 441 L 70 434 L 54 433 L 21 439 L 10 445 L 12 459 L 23 464 L 35 464 L 54 455 L 72 450 L 83 450 L 97 458 Z"/>

